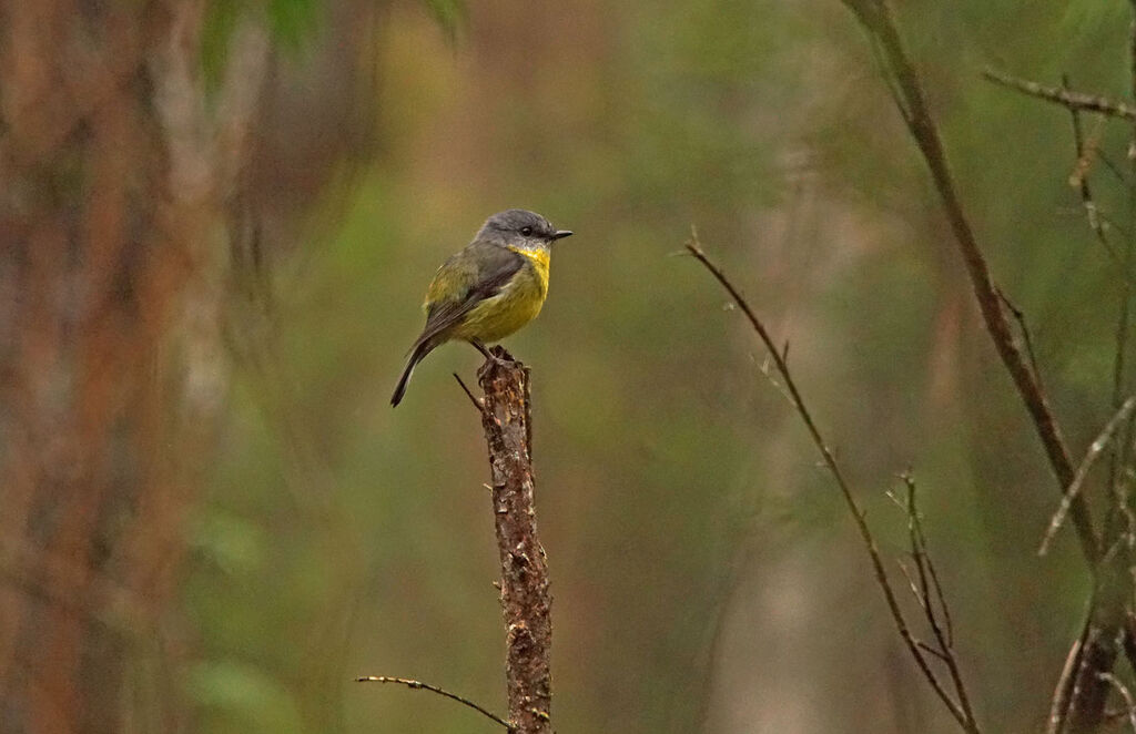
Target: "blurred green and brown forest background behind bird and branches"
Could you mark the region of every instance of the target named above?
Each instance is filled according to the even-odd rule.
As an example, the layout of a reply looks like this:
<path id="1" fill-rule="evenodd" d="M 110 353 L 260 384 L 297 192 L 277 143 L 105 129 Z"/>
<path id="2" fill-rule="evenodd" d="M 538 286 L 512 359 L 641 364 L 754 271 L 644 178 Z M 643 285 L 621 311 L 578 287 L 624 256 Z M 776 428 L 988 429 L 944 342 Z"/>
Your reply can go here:
<path id="1" fill-rule="evenodd" d="M 953 727 L 758 343 L 668 257 L 692 225 L 791 344 L 888 556 L 913 468 L 979 717 L 1041 727 L 1089 582 L 1071 536 L 1036 556 L 1054 482 L 838 2 L 2 7 L 0 729 L 491 731 L 352 678 L 503 710 L 485 448 L 450 375 L 479 357 L 387 399 L 434 268 L 509 207 L 576 232 L 508 340 L 558 731 Z M 1079 456 L 1124 278 L 1068 114 L 979 73 L 1122 98 L 1130 9 L 895 9 Z"/>

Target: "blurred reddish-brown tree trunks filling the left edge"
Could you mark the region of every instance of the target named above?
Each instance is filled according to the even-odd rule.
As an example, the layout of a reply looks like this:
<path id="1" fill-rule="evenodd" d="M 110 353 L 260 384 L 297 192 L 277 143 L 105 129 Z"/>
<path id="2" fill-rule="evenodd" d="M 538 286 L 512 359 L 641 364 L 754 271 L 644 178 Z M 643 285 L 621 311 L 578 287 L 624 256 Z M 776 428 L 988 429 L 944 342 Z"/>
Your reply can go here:
<path id="1" fill-rule="evenodd" d="M 185 728 L 159 666 L 226 402 L 228 215 L 268 56 L 206 3 L 2 0 L 0 729 Z"/>

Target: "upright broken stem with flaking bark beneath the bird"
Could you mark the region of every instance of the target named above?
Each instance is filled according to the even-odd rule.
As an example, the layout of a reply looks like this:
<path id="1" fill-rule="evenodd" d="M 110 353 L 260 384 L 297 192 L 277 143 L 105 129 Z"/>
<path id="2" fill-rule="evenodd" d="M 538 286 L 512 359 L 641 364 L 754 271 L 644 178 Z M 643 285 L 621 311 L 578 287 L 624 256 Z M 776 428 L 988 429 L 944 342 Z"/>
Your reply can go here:
<path id="1" fill-rule="evenodd" d="M 551 734 L 551 597 L 533 498 L 529 373 L 500 347 L 493 355 L 482 366 L 478 382 L 485 391 L 482 426 L 501 560 L 510 731 Z"/>

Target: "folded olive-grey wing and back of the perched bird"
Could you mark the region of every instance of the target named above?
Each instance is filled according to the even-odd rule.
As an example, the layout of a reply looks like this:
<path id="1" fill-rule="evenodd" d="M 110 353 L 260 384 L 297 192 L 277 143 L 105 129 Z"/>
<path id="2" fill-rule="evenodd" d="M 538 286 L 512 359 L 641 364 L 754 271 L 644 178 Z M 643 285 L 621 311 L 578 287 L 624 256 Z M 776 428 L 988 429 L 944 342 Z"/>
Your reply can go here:
<path id="1" fill-rule="evenodd" d="M 496 295 L 525 258 L 486 242 L 473 242 L 442 264 L 426 290 L 426 326 L 415 344 L 433 340 L 461 322 L 475 306 Z"/>

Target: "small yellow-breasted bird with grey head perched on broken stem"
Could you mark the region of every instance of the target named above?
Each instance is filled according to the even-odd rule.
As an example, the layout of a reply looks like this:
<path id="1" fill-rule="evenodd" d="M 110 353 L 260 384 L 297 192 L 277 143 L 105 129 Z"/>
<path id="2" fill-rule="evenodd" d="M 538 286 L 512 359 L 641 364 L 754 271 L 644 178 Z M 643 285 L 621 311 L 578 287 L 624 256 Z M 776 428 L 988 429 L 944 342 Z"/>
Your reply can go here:
<path id="1" fill-rule="evenodd" d="M 504 339 L 536 318 L 549 294 L 551 245 L 570 234 L 524 209 L 486 219 L 474 241 L 450 256 L 426 289 L 426 326 L 410 348 L 391 404 L 399 404 L 415 365 L 435 347 L 461 339 L 492 359 L 485 342 Z"/>

